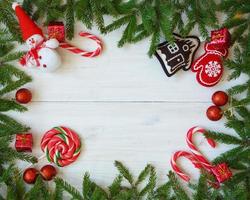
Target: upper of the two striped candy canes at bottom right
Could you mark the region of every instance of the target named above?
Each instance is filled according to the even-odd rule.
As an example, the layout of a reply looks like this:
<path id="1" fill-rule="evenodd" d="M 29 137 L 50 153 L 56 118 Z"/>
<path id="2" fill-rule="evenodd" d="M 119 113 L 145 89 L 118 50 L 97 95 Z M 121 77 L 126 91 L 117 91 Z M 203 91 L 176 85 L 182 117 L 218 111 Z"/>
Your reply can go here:
<path id="1" fill-rule="evenodd" d="M 211 169 L 213 168 L 213 165 L 201 154 L 201 152 L 198 150 L 198 148 L 193 143 L 193 135 L 196 134 L 196 133 L 202 133 L 202 134 L 204 134 L 204 133 L 206 133 L 206 130 L 203 129 L 203 128 L 197 127 L 197 126 L 189 129 L 189 131 L 187 132 L 187 137 L 186 137 L 187 145 L 191 149 L 191 151 L 194 154 L 194 156 L 203 165 L 203 167 L 206 170 L 211 171 Z M 213 148 L 216 146 L 215 141 L 212 140 L 212 139 L 207 138 L 207 142 Z"/>

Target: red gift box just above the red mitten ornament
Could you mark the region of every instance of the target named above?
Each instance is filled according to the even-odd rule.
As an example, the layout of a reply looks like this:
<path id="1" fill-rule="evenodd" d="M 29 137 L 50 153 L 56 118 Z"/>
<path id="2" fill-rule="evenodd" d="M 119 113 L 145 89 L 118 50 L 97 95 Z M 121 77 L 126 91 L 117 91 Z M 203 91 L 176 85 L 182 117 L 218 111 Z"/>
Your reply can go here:
<path id="1" fill-rule="evenodd" d="M 211 42 L 215 49 L 228 49 L 230 46 L 230 33 L 227 28 L 211 31 Z"/>

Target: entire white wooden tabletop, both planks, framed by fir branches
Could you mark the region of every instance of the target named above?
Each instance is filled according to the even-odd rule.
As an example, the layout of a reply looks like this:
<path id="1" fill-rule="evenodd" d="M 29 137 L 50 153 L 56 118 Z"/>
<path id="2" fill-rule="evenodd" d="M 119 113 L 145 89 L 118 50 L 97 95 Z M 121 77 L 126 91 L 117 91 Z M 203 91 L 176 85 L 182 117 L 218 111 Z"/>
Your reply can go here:
<path id="1" fill-rule="evenodd" d="M 77 32 L 80 30 L 83 27 L 78 25 Z M 92 33 L 99 34 L 97 30 Z M 100 35 L 105 51 L 98 58 L 82 58 L 60 50 L 64 64 L 57 72 L 28 71 L 34 79 L 27 85 L 33 91 L 33 102 L 28 112 L 11 113 L 31 127 L 33 152 L 38 157 L 42 155 L 40 139 L 50 128 L 65 125 L 79 133 L 85 146 L 81 156 L 74 164 L 59 169 L 59 176 L 79 189 L 86 171 L 98 184 L 110 184 L 117 174 L 114 160 L 123 161 L 135 175 L 147 163 L 153 164 L 160 184 L 170 170 L 171 155 L 188 149 L 185 135 L 189 128 L 200 125 L 225 130 L 223 120 L 211 122 L 205 111 L 213 92 L 235 83 L 227 83 L 225 75 L 218 86 L 204 88 L 190 71 L 167 78 L 156 58 L 146 55 L 148 40 L 119 49 L 116 42 L 120 36 L 120 31 Z M 90 42 L 76 35 L 72 44 L 85 48 Z M 210 159 L 229 148 L 219 145 L 211 150 L 203 137 L 197 140 Z M 43 159 L 38 166 L 45 163 Z M 184 163 L 197 178 L 192 165 Z M 25 168 L 27 163 L 19 166 Z"/>

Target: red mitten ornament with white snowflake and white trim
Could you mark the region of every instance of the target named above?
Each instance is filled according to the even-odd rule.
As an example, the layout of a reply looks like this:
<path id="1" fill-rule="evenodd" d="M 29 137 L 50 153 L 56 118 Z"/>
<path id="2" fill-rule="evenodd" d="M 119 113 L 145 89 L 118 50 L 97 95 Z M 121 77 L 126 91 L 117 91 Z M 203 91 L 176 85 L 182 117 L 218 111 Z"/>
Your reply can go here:
<path id="1" fill-rule="evenodd" d="M 192 65 L 197 81 L 205 86 L 216 85 L 223 75 L 222 57 L 228 54 L 227 49 L 215 49 L 210 43 L 205 44 L 205 53 Z"/>

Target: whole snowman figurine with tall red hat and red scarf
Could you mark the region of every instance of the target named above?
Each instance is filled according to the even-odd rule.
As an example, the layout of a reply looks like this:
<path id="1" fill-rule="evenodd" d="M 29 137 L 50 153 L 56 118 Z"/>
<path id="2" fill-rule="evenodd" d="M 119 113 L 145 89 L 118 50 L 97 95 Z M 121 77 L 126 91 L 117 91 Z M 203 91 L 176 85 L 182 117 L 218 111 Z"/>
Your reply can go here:
<path id="1" fill-rule="evenodd" d="M 20 59 L 21 65 L 45 72 L 55 71 L 61 65 L 61 57 L 56 51 L 59 42 L 56 39 L 46 40 L 42 30 L 18 3 L 13 3 L 12 8 L 16 12 L 23 40 L 29 47 L 28 53 Z"/>

